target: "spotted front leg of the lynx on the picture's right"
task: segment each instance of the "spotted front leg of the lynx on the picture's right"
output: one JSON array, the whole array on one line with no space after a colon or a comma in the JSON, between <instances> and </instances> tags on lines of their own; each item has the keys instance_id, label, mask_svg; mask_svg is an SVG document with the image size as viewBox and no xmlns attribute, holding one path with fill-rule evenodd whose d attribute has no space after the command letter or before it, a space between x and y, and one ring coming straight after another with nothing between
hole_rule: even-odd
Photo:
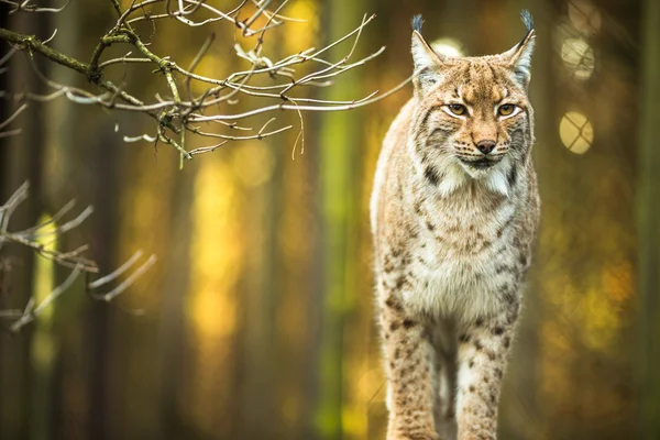
<instances>
[{"instance_id":1,"label":"spotted front leg of the lynx on the picture's right","mask_svg":"<svg viewBox=\"0 0 660 440\"><path fill-rule=\"evenodd\" d=\"M502 380L519 305L479 319L459 336L459 440L495 440Z\"/></svg>"}]
</instances>

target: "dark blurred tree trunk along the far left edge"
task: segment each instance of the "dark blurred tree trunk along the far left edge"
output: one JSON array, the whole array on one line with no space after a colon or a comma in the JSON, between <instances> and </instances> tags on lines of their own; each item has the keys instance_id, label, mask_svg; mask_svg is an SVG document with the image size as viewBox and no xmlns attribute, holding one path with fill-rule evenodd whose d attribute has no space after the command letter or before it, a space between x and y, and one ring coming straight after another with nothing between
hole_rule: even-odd
<instances>
[{"instance_id":1,"label":"dark blurred tree trunk along the far left edge","mask_svg":"<svg viewBox=\"0 0 660 440\"><path fill-rule=\"evenodd\" d=\"M6 15L2 21L7 24ZM4 25L3 24L3 25ZM29 35L44 36L50 29L48 14L37 14L28 18L25 15L12 20L14 29ZM2 52L4 55L6 52ZM36 94L44 94L45 86L31 73L26 63L20 63L20 56L12 59L11 85L2 90L25 88ZM35 57L37 68L47 75L48 65L44 58ZM2 75L3 77L6 75ZM9 114L18 107L11 106ZM42 157L45 144L45 111L43 106L33 105L25 110L16 123L23 123L23 132L15 138L2 139L2 163L0 164L0 204L4 204L9 196L15 191L23 182L30 182L30 197L21 208L12 216L10 228L26 228L34 226L41 209L41 177L43 162ZM12 125L14 128L18 125ZM10 246L7 246L10 248ZM8 256L7 248L0 257ZM10 253L18 264L12 264L12 272L8 274L11 283L10 298L0 298L0 307L22 308L28 304L33 294L33 262L34 252L21 246L10 248ZM30 362L32 350L32 329L26 328L21 334L12 337L8 332L0 331L0 438L2 439L28 439L34 429L31 426L30 397L33 387L33 369Z\"/></svg>"}]
</instances>

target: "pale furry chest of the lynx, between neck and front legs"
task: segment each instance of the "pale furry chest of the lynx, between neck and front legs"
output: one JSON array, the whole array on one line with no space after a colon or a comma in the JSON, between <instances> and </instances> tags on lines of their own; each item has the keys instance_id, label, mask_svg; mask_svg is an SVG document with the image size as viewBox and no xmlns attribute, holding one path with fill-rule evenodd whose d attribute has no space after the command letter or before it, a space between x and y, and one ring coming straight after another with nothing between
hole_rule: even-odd
<instances>
[{"instance_id":1,"label":"pale furry chest of the lynx, between neck and front legs","mask_svg":"<svg viewBox=\"0 0 660 440\"><path fill-rule=\"evenodd\" d=\"M518 279L516 215L507 200L492 207L428 204L410 249L407 306L458 319L490 316L504 307Z\"/></svg>"}]
</instances>

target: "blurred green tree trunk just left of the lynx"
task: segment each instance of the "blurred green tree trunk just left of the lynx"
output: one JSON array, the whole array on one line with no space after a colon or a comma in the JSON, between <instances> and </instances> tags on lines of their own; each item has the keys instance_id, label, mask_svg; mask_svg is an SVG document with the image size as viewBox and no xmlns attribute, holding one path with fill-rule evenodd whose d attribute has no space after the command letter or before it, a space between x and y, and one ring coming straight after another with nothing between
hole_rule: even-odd
<instances>
[{"instance_id":1,"label":"blurred green tree trunk just left of the lynx","mask_svg":"<svg viewBox=\"0 0 660 440\"><path fill-rule=\"evenodd\" d=\"M332 0L323 3L327 18L328 44L351 31L362 14L362 2ZM350 18L350 19L348 19ZM331 52L332 59L345 56L350 46L340 45ZM355 59L360 53L353 55ZM356 72L341 78L341 87L332 87L324 99L340 100L360 94ZM356 266L354 242L355 200L359 185L355 182L356 152L362 133L360 117L349 112L324 116L319 134L320 194L321 194L321 254L323 284L323 314L318 378L321 381L316 422L322 439L341 439L343 436L342 407L344 400L344 326L353 292ZM369 295L369 293L364 293Z\"/></svg>"}]
</instances>

